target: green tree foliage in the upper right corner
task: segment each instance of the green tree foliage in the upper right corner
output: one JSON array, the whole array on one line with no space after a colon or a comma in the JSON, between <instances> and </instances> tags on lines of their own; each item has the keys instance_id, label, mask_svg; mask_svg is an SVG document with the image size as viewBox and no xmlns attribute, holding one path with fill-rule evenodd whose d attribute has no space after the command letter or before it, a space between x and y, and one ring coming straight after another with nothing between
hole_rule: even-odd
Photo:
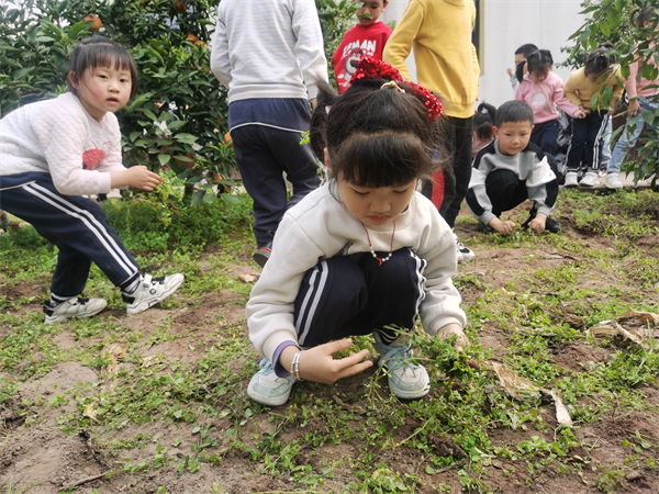
<instances>
[{"instance_id":1,"label":"green tree foliage in the upper right corner","mask_svg":"<svg viewBox=\"0 0 659 494\"><path fill-rule=\"evenodd\" d=\"M659 56L657 54L657 40L659 37L659 0L584 0L582 14L589 14L585 23L577 31L570 40L574 42L572 47L562 48L569 52L567 66L580 67L583 65L585 54L597 47L601 43L613 43L615 49L612 52L621 64L623 77L629 77L629 65L639 61L639 72L648 80L659 83ZM656 8L650 18L649 25L643 29L629 25L629 14L636 8L652 5ZM654 60L655 64L650 64ZM603 88L601 93L593 98L601 98L604 108L611 104L612 91ZM659 97L652 99L659 102ZM622 167L623 171L634 172L634 180L648 179L654 175L652 188L659 190L657 176L659 175L659 110L643 112L643 119L649 124L646 126L645 135L641 135L636 145L637 158L632 159ZM638 117L629 119L632 131ZM654 126L651 126L654 124ZM614 138L619 135L623 127L614 133Z\"/></svg>"}]
</instances>

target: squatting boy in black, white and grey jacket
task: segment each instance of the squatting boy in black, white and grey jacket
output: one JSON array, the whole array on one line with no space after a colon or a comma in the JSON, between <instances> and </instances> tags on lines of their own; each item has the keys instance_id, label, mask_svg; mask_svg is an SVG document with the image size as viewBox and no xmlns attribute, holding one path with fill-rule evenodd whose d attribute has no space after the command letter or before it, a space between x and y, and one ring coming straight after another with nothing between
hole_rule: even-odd
<instances>
[{"instance_id":1,"label":"squatting boy in black, white and grey jacket","mask_svg":"<svg viewBox=\"0 0 659 494\"><path fill-rule=\"evenodd\" d=\"M474 158L467 192L467 206L479 221L480 232L510 235L516 225L501 221L501 213L527 199L534 206L522 227L560 232L558 222L549 217L558 181L540 148L529 142L533 126L533 110L523 101L509 101L496 110L495 139Z\"/></svg>"}]
</instances>

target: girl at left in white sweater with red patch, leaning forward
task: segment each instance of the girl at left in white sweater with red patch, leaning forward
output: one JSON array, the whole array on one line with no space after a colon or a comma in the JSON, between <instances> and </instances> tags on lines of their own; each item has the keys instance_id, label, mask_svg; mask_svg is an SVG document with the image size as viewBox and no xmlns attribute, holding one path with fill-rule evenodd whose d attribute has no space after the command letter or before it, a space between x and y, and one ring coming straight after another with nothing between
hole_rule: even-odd
<instances>
[{"instance_id":1,"label":"girl at left in white sweater with red patch, leaning forward","mask_svg":"<svg viewBox=\"0 0 659 494\"><path fill-rule=\"evenodd\" d=\"M46 323L89 317L108 305L78 296L92 261L121 290L126 312L136 314L174 293L183 276L142 277L103 210L81 197L121 187L150 191L160 183L144 166L122 165L114 112L137 92L135 60L105 37L83 40L71 55L68 85L67 93L0 120L0 207L59 248Z\"/></svg>"}]
</instances>

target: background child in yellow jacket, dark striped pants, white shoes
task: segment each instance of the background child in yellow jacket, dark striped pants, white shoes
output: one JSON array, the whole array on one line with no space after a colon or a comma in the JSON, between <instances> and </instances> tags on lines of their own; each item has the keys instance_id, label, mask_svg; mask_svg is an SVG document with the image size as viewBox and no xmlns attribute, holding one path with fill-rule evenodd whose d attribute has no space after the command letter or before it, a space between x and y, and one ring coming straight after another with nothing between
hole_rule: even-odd
<instances>
[{"instance_id":1,"label":"background child in yellow jacket, dark striped pants, white shoes","mask_svg":"<svg viewBox=\"0 0 659 494\"><path fill-rule=\"evenodd\" d=\"M566 187L594 187L600 169L600 147L602 134L608 123L608 117L617 108L623 93L623 77L615 57L607 55L611 48L601 46L585 57L585 64L574 70L565 85L566 97L587 115L584 119L572 121L572 142L568 149ZM611 105L603 106L602 98L593 108L592 98L602 88L610 87L613 91ZM578 181L581 160L585 150L585 173Z\"/></svg>"}]
</instances>

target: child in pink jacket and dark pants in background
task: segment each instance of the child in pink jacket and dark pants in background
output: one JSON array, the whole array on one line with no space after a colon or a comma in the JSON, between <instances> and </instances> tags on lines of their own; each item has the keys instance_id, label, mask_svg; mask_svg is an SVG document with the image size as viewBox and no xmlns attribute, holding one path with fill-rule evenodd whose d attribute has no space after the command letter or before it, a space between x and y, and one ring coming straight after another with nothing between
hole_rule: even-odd
<instances>
[{"instance_id":1,"label":"child in pink jacket and dark pants in background","mask_svg":"<svg viewBox=\"0 0 659 494\"><path fill-rule=\"evenodd\" d=\"M520 82L515 99L524 101L533 109L535 126L530 133L530 142L539 146L545 154L556 156L560 119L556 106L574 119L583 119L585 112L566 98L562 79L551 71L551 52L539 49L528 55L526 60L528 74Z\"/></svg>"}]
</instances>

